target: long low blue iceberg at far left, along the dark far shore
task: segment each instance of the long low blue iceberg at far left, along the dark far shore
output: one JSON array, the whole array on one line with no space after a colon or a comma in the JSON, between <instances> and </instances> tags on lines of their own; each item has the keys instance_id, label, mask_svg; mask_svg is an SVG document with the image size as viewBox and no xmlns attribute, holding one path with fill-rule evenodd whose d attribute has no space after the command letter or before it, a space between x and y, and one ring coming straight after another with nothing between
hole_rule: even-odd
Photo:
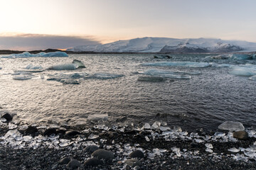
<instances>
[{"instance_id":1,"label":"long low blue iceberg at far left, along the dark far shore","mask_svg":"<svg viewBox=\"0 0 256 170\"><path fill-rule=\"evenodd\" d=\"M23 52L21 54L11 54L9 56L2 56L1 58L26 58L26 57L68 57L66 52L39 52L31 54L30 52Z\"/></svg>"}]
</instances>

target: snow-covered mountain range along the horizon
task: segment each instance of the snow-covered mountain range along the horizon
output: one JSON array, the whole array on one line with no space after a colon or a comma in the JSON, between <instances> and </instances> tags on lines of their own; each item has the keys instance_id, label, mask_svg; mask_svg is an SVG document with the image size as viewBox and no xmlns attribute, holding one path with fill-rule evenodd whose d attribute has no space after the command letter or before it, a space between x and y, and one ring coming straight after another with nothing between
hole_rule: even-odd
<instances>
[{"instance_id":1,"label":"snow-covered mountain range along the horizon","mask_svg":"<svg viewBox=\"0 0 256 170\"><path fill-rule=\"evenodd\" d=\"M74 52L235 52L256 51L256 42L214 38L135 38L103 45L82 45Z\"/></svg>"}]
</instances>

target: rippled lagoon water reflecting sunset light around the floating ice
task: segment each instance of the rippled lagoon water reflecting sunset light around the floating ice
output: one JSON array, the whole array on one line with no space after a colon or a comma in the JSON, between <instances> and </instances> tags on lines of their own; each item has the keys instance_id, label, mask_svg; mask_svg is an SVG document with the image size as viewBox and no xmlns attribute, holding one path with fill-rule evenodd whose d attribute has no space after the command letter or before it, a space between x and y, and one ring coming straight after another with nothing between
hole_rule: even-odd
<instances>
[{"instance_id":1,"label":"rippled lagoon water reflecting sunset light around the floating ice","mask_svg":"<svg viewBox=\"0 0 256 170\"><path fill-rule=\"evenodd\" d=\"M205 59L205 55L174 55L171 61L218 62L245 64L255 61ZM11 73L28 64L43 68L53 64L81 60L86 68L74 71L33 73L32 79L18 81ZM182 128L216 128L225 120L238 120L254 125L256 120L255 85L247 77L228 74L229 68L181 68L142 66L156 60L153 55L70 55L70 57L0 59L0 106L17 113L18 120L32 123L57 121L75 124L91 114L109 115L114 123L127 116L127 121L153 123L167 120ZM255 63L254 63L255 62ZM191 79L162 82L137 81L148 69L201 72ZM107 72L124 74L117 79L85 79L80 84L47 81L48 74Z\"/></svg>"}]
</instances>

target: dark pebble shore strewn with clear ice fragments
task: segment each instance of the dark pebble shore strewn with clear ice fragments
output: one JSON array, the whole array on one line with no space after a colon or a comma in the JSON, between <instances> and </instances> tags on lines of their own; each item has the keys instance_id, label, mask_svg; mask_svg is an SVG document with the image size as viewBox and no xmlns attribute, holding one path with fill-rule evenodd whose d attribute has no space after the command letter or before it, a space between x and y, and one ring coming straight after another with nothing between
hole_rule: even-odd
<instances>
[{"instance_id":1,"label":"dark pebble shore strewn with clear ice fragments","mask_svg":"<svg viewBox=\"0 0 256 170\"><path fill-rule=\"evenodd\" d=\"M13 124L12 124L13 125ZM9 132L10 123L0 126L0 137ZM18 125L19 127L19 125ZM41 137L43 140L30 146L26 142L24 147L12 145L17 140L0 139L0 169L256 169L255 157L246 157L240 152L229 152L230 148L247 148L254 144L255 137L247 140L224 140L223 134L228 132L181 132L172 130L173 137L161 135L161 130L138 130L136 127L100 128L58 127L28 131L28 128L17 132L21 136ZM36 126L33 126L36 128ZM33 128L32 128L33 129ZM36 128L37 129L37 128ZM48 131L47 131L48 130ZM93 135L92 135L93 134ZM218 135L221 135L218 136ZM43 138L46 137L46 138ZM147 138L146 138L147 137ZM211 140L204 141L206 137ZM14 136L15 138L15 136ZM70 141L63 147L55 147L59 140ZM85 166L84 162L90 159L91 153L85 150L88 144L94 144L114 154L112 161L103 160L99 166ZM86 143L86 144L85 144ZM206 152L206 143L213 145L213 152ZM35 147L36 146L36 147ZM178 152L175 149L180 150ZM141 149L144 158L139 159L140 166L129 166L124 160L130 159L129 154L134 149ZM178 155L180 154L180 155ZM70 168L66 164L58 164L60 159L68 157L80 162L80 166ZM238 159L234 159L238 157Z\"/></svg>"}]
</instances>

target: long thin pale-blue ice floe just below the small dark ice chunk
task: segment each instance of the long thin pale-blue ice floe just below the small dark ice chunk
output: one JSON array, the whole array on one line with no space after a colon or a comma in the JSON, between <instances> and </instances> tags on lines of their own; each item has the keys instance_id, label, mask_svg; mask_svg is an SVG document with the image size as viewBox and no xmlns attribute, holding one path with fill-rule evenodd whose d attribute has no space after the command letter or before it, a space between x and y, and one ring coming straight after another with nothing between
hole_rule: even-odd
<instances>
[{"instance_id":1,"label":"long thin pale-blue ice floe just below the small dark ice chunk","mask_svg":"<svg viewBox=\"0 0 256 170\"><path fill-rule=\"evenodd\" d=\"M191 68L203 68L209 67L207 62L148 62L141 64L142 66L169 66L169 67L191 67Z\"/></svg>"}]
</instances>

